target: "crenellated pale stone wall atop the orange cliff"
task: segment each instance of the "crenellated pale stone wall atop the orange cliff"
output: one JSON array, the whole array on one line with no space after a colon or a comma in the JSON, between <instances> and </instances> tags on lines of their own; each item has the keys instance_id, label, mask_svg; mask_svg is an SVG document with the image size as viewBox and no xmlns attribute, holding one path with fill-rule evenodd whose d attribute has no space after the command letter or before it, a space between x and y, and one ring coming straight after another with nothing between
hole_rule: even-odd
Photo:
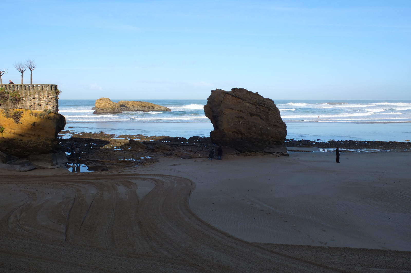
<instances>
[{"instance_id":1,"label":"crenellated pale stone wall atop the orange cliff","mask_svg":"<svg viewBox=\"0 0 411 273\"><path fill-rule=\"evenodd\" d=\"M0 84L7 92L17 92L20 102L0 104L0 109L30 109L33 111L48 111L58 113L57 84Z\"/></svg>"}]
</instances>

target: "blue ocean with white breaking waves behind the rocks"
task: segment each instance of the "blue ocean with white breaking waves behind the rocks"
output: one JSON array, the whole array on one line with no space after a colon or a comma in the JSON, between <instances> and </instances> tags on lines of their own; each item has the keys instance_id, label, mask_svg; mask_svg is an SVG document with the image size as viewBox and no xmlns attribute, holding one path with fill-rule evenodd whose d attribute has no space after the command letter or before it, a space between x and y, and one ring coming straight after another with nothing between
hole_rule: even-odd
<instances>
[{"instance_id":1,"label":"blue ocean with white breaking waves behind the rocks","mask_svg":"<svg viewBox=\"0 0 411 273\"><path fill-rule=\"evenodd\" d=\"M137 100L137 99L136 99ZM113 100L118 102L119 100ZM93 115L95 100L59 100L59 113L71 132L209 136L207 100L143 100L171 112ZM274 100L287 124L287 138L308 140L407 141L411 139L411 100Z\"/></svg>"}]
</instances>

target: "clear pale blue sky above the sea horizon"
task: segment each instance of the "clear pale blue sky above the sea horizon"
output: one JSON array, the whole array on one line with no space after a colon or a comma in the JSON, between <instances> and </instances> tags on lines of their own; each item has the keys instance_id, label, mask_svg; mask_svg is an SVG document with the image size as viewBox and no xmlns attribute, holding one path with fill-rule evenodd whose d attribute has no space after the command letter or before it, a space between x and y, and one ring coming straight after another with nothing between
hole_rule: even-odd
<instances>
[{"instance_id":1,"label":"clear pale blue sky above the sea horizon","mask_svg":"<svg viewBox=\"0 0 411 273\"><path fill-rule=\"evenodd\" d=\"M411 1L2 1L3 83L62 99L411 99ZM24 83L30 75L24 74Z\"/></svg>"}]
</instances>

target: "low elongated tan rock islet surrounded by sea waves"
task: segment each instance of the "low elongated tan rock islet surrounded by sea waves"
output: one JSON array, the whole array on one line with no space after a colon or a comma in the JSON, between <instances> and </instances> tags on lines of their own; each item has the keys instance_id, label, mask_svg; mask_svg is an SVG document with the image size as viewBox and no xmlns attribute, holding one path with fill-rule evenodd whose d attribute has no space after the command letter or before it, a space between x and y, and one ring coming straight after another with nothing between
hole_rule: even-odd
<instances>
[{"instance_id":1,"label":"low elongated tan rock islet surrounded by sea waves","mask_svg":"<svg viewBox=\"0 0 411 273\"><path fill-rule=\"evenodd\" d=\"M144 101L120 100L112 102L109 98L99 98L93 107L93 114L118 114L122 111L171 111L170 108Z\"/></svg>"}]
</instances>

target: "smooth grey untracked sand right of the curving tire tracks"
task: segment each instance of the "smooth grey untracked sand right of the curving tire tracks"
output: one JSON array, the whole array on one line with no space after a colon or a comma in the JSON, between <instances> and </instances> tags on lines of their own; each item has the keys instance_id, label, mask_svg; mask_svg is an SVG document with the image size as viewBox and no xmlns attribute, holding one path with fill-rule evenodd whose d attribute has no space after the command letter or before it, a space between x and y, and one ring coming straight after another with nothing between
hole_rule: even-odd
<instances>
[{"instance_id":1,"label":"smooth grey untracked sand right of the curving tire tracks","mask_svg":"<svg viewBox=\"0 0 411 273\"><path fill-rule=\"evenodd\" d=\"M196 181L192 210L246 241L411 251L411 153L289 153L143 168Z\"/></svg>"}]
</instances>

